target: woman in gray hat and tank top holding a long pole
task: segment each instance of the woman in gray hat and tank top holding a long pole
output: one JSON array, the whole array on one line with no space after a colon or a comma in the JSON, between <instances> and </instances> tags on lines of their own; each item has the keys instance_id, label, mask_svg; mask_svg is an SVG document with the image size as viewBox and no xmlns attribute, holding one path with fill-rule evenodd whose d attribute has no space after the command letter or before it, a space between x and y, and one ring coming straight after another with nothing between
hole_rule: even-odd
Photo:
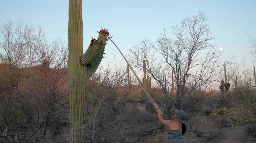
<instances>
[{"instance_id":1,"label":"woman in gray hat and tank top holding a long pole","mask_svg":"<svg viewBox=\"0 0 256 143\"><path fill-rule=\"evenodd\" d=\"M165 127L167 126L167 143L186 143L184 138L186 132L186 125L184 123L186 118L185 112L175 109L174 120L163 120L159 108L155 110L158 114L159 122L164 124Z\"/></svg>"}]
</instances>

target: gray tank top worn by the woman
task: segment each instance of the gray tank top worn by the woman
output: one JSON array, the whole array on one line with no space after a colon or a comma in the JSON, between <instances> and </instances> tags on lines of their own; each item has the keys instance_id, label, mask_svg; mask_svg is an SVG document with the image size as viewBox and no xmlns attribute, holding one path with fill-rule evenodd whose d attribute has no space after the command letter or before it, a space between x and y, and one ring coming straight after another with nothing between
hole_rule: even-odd
<instances>
[{"instance_id":1,"label":"gray tank top worn by the woman","mask_svg":"<svg viewBox=\"0 0 256 143\"><path fill-rule=\"evenodd\" d=\"M167 129L167 143L186 143L185 138L182 135L182 127L179 124L178 126L178 130L170 130L169 128Z\"/></svg>"}]
</instances>

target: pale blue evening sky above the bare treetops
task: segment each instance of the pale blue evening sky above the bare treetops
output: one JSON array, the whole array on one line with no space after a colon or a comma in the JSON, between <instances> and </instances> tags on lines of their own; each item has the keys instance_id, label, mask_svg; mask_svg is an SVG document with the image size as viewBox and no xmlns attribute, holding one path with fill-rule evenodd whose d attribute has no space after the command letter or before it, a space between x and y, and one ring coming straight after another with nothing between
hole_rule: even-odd
<instances>
[{"instance_id":1,"label":"pale blue evening sky above the bare treetops","mask_svg":"<svg viewBox=\"0 0 256 143\"><path fill-rule=\"evenodd\" d=\"M84 51L91 36L97 37L100 28L107 28L112 40L125 55L131 46L145 37L155 41L163 28L172 38L170 26L179 25L185 16L205 11L207 24L215 35L218 48L223 48L223 59L243 57L251 63L248 35L256 38L256 1L82 1L84 25ZM67 41L68 0L63 1L0 1L0 25L7 19L29 20L41 24L49 38L61 37ZM108 41L106 59L113 60L116 50ZM122 59L119 53L118 57ZM253 64L250 65L252 67Z\"/></svg>"}]
</instances>

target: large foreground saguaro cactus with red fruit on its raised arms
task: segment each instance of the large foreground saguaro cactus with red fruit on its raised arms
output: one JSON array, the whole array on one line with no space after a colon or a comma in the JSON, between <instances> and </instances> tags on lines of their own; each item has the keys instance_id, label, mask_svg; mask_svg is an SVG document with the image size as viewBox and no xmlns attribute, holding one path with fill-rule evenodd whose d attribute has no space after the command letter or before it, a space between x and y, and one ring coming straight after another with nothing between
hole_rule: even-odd
<instances>
[{"instance_id":1,"label":"large foreground saguaro cactus with red fruit on its raised arms","mask_svg":"<svg viewBox=\"0 0 256 143\"><path fill-rule=\"evenodd\" d=\"M82 0L69 0L68 10L68 88L71 143L82 143L86 119L87 79L98 68L104 54L108 30L101 29L83 54Z\"/></svg>"}]
</instances>

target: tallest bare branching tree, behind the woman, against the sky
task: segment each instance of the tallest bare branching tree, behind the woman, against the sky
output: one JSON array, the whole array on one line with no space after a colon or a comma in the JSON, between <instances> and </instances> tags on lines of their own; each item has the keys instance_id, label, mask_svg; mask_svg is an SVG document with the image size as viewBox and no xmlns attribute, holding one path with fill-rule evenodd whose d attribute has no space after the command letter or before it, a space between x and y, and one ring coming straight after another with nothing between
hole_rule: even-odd
<instances>
[{"instance_id":1,"label":"tallest bare branching tree, behind the woman, against the sky","mask_svg":"<svg viewBox=\"0 0 256 143\"><path fill-rule=\"evenodd\" d=\"M180 26L172 26L175 40L168 38L168 32L164 30L156 42L145 39L130 49L131 63L142 70L142 60L145 59L146 72L156 80L166 96L173 70L177 88L174 102L178 109L182 109L183 101L191 96L193 90L219 81L217 75L228 63L227 59L221 61L222 52L211 43L215 37L206 23L207 19L205 12L199 11L198 15L181 20Z\"/></svg>"}]
</instances>

